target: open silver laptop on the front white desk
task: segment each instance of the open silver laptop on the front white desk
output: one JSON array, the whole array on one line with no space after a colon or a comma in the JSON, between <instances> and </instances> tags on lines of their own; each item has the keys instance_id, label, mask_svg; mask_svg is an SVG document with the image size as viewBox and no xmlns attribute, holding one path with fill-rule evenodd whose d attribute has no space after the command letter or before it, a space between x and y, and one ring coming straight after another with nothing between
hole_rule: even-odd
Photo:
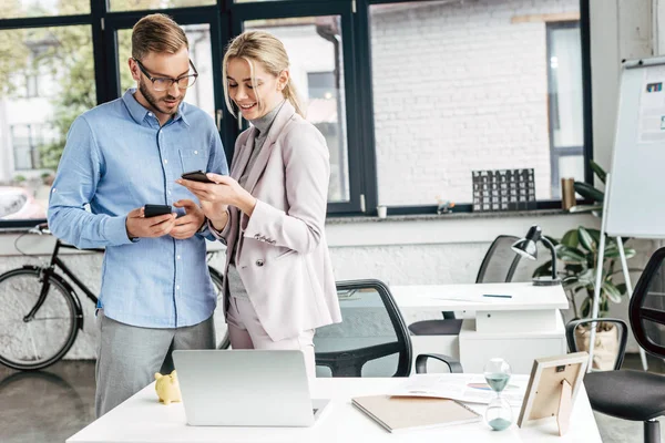
<instances>
[{"instance_id":1,"label":"open silver laptop on the front white desk","mask_svg":"<svg viewBox=\"0 0 665 443\"><path fill-rule=\"evenodd\" d=\"M187 424L310 426L329 400L311 400L303 352L176 350Z\"/></svg>"}]
</instances>

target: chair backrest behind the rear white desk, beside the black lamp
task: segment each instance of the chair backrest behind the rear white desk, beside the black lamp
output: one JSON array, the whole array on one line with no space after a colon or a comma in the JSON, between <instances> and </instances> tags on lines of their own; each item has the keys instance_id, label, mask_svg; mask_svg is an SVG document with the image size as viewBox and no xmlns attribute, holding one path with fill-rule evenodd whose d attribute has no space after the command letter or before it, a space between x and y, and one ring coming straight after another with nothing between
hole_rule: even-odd
<instances>
[{"instance_id":1,"label":"chair backrest behind the rear white desk, beside the black lamp","mask_svg":"<svg viewBox=\"0 0 665 443\"><path fill-rule=\"evenodd\" d=\"M478 270L477 284L501 284L512 280L520 255L510 247L518 240L514 236L500 235L492 241Z\"/></svg>"}]
</instances>

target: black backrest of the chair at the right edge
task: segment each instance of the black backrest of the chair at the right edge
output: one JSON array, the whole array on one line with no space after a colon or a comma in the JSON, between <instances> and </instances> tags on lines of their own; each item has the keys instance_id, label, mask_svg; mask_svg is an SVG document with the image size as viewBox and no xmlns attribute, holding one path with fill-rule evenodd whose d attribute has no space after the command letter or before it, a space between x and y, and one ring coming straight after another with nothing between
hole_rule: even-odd
<instances>
[{"instance_id":1,"label":"black backrest of the chair at the right edge","mask_svg":"<svg viewBox=\"0 0 665 443\"><path fill-rule=\"evenodd\" d=\"M637 343L652 356L665 357L665 248L649 258L628 308Z\"/></svg>"}]
</instances>

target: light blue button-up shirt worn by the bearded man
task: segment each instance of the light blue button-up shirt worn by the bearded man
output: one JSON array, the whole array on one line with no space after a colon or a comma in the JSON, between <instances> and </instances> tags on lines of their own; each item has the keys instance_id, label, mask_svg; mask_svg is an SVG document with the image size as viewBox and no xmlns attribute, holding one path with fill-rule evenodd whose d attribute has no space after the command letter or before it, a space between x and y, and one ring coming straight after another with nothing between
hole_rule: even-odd
<instances>
[{"instance_id":1,"label":"light blue button-up shirt worn by the bearded man","mask_svg":"<svg viewBox=\"0 0 665 443\"><path fill-rule=\"evenodd\" d=\"M70 127L51 188L49 227L79 248L106 248L98 303L104 316L146 328L197 324L217 302L205 257L209 231L185 240L166 235L132 241L125 222L145 204L198 204L175 179L196 169L228 174L222 140L213 119L187 103L160 126L135 91L85 112Z\"/></svg>"}]
</instances>

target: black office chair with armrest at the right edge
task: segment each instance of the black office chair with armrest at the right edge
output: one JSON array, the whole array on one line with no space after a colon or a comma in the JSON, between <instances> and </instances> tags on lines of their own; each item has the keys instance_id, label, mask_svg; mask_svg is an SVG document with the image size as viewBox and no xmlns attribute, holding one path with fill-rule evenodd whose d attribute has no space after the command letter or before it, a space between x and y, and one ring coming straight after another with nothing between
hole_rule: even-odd
<instances>
[{"instance_id":1,"label":"black office chair with armrest at the right edge","mask_svg":"<svg viewBox=\"0 0 665 443\"><path fill-rule=\"evenodd\" d=\"M665 358L665 248L654 253L633 292L628 308L631 329L637 343L648 353ZM582 322L611 321L623 323L620 356L614 371L590 372L584 385L594 411L617 419L644 422L644 442L661 441L661 426L656 420L665 415L665 377L651 372L620 370L626 343L625 322L617 319L584 319L566 327L569 346L571 333ZM576 323L576 324L575 324ZM622 327L620 327L621 330ZM571 346L571 351L576 348Z\"/></svg>"}]
</instances>

